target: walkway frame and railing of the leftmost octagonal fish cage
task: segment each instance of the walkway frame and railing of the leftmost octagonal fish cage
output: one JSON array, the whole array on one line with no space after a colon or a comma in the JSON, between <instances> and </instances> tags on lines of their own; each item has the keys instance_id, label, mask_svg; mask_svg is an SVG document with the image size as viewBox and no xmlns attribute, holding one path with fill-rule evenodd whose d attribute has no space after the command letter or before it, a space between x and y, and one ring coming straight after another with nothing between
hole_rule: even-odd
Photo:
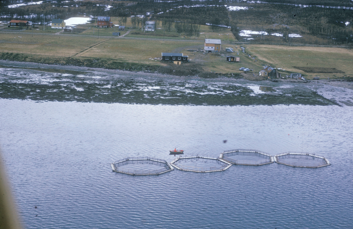
<instances>
[{"instance_id":1,"label":"walkway frame and railing of the leftmost octagonal fish cage","mask_svg":"<svg viewBox=\"0 0 353 229\"><path fill-rule=\"evenodd\" d=\"M149 165L156 165L161 166L160 169L131 169L131 168L124 168L124 165L129 164L149 164ZM169 163L162 159L157 159L153 157L126 157L119 161L115 161L111 163L112 170L117 173L125 173L129 175L159 175L162 173L166 173L169 171L174 170Z\"/></svg>"}]
</instances>

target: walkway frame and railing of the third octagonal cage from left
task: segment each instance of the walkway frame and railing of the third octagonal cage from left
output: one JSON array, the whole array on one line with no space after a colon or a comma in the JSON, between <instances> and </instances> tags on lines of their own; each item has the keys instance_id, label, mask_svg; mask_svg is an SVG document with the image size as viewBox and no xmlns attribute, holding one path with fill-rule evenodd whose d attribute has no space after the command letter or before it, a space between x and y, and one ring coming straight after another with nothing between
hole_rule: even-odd
<instances>
[{"instance_id":1,"label":"walkway frame and railing of the third octagonal cage from left","mask_svg":"<svg viewBox=\"0 0 353 229\"><path fill-rule=\"evenodd\" d=\"M243 155L243 156L257 156L257 157L262 157L264 160L260 161L255 161L255 160L236 160L228 156L234 156L234 155ZM232 149L232 150L226 150L223 153L220 154L219 156L221 159L228 161L234 165L252 165L252 166L260 166L260 165L266 165L274 162L273 157L265 152L262 152L260 150L256 149Z\"/></svg>"}]
</instances>

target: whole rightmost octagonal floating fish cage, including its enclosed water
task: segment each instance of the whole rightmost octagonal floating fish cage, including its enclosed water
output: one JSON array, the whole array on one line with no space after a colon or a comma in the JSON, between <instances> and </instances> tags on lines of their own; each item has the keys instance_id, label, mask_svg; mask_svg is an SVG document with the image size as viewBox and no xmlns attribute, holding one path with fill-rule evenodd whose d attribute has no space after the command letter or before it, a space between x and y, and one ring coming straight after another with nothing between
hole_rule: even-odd
<instances>
[{"instance_id":1,"label":"whole rightmost octagonal floating fish cage, including its enclosed water","mask_svg":"<svg viewBox=\"0 0 353 229\"><path fill-rule=\"evenodd\" d=\"M330 165L330 162L321 156L309 153L286 152L275 156L277 163L292 167L319 168Z\"/></svg>"}]
</instances>

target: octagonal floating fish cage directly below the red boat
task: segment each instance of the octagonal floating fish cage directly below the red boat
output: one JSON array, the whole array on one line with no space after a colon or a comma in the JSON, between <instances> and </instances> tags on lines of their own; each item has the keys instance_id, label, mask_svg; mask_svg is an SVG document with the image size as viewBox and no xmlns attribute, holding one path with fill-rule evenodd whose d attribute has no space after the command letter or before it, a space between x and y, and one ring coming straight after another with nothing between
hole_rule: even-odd
<instances>
[{"instance_id":1,"label":"octagonal floating fish cage directly below the red boat","mask_svg":"<svg viewBox=\"0 0 353 229\"><path fill-rule=\"evenodd\" d=\"M185 162L205 162L205 163L212 163L214 166L185 166L183 163ZM170 165L179 169L181 171L189 171L189 172L198 172L198 173L208 173L208 172L220 172L225 171L229 167L232 166L231 163L220 159L219 157L212 157L212 156L203 156L203 155L196 155L196 156L179 156L175 158Z\"/></svg>"}]
</instances>

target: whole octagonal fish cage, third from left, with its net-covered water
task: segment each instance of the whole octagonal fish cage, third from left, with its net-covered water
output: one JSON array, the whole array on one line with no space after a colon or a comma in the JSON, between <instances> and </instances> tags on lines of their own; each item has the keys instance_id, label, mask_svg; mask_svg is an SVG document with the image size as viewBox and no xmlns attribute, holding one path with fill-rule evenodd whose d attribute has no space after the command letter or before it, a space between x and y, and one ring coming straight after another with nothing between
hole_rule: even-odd
<instances>
[{"instance_id":1,"label":"whole octagonal fish cage, third from left, with its net-covered water","mask_svg":"<svg viewBox=\"0 0 353 229\"><path fill-rule=\"evenodd\" d=\"M233 156L233 158L232 158ZM234 165L265 165L273 163L271 155L256 149L233 149L220 154L220 158Z\"/></svg>"}]
</instances>

